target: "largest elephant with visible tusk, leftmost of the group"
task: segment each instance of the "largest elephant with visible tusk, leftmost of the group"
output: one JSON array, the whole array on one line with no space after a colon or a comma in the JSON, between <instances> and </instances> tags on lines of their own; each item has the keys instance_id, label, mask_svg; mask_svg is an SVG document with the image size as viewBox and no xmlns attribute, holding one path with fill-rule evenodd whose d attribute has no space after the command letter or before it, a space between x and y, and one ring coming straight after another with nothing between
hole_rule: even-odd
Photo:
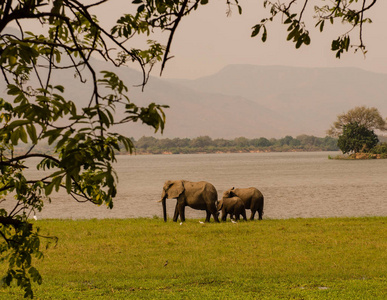
<instances>
[{"instance_id":1,"label":"largest elephant with visible tusk, leftmost of the group","mask_svg":"<svg viewBox=\"0 0 387 300\"><path fill-rule=\"evenodd\" d=\"M173 221L176 222L180 215L180 220L185 221L185 207L206 211L206 222L210 221L211 214L216 222L218 210L216 203L218 193L215 187L206 181L190 182L186 180L168 180L164 183L161 200L163 204L164 221L167 221L166 199L177 199Z\"/></svg>"}]
</instances>

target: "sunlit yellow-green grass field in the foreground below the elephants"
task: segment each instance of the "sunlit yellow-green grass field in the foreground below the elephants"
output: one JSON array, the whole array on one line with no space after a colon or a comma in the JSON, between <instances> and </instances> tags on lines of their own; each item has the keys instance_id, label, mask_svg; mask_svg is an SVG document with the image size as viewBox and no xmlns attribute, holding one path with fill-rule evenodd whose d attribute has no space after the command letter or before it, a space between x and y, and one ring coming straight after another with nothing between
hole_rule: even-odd
<instances>
[{"instance_id":1,"label":"sunlit yellow-green grass field in the foreground below the elephants","mask_svg":"<svg viewBox=\"0 0 387 300\"><path fill-rule=\"evenodd\" d=\"M387 217L39 220L36 299L385 299ZM167 265L165 265L168 261ZM0 270L4 266L0 265ZM0 299L20 299L17 288Z\"/></svg>"}]
</instances>

